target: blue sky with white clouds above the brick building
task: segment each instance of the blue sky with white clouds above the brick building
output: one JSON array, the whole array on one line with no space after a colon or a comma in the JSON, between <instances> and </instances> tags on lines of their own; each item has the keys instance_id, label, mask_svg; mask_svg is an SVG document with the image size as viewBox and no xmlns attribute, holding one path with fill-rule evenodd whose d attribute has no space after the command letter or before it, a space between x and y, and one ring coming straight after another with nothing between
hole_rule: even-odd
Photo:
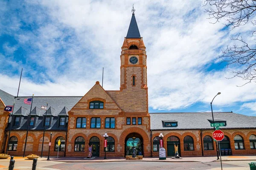
<instances>
[{"instance_id":1,"label":"blue sky with white clouds above the brick building","mask_svg":"<svg viewBox=\"0 0 256 170\"><path fill-rule=\"evenodd\" d=\"M216 59L251 26L211 24L203 1L0 1L0 89L20 96L83 96L101 82L118 90L131 5L147 50L150 112L233 111L256 115L255 83Z\"/></svg>"}]
</instances>

